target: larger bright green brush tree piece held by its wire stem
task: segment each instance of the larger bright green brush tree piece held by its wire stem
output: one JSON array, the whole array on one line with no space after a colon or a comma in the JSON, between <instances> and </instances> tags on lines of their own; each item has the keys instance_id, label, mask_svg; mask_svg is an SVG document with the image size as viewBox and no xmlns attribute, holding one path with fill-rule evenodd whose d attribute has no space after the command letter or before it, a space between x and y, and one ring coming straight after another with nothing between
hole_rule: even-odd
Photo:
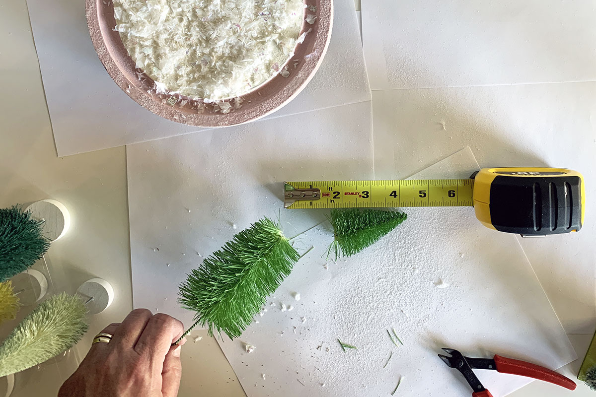
<instances>
[{"instance_id":1,"label":"larger bright green brush tree piece held by its wire stem","mask_svg":"<svg viewBox=\"0 0 596 397\"><path fill-rule=\"evenodd\" d=\"M231 339L239 337L299 258L280 226L269 218L235 235L180 286L178 301L195 312L196 323L187 333L200 323L210 335L224 332Z\"/></svg>"}]
</instances>

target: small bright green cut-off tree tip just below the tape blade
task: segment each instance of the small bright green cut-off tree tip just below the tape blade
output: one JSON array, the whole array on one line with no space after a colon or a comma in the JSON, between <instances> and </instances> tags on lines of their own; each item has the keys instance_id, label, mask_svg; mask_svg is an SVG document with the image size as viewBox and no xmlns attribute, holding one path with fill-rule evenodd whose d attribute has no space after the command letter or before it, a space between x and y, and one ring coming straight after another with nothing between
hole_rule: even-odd
<instances>
[{"instance_id":1,"label":"small bright green cut-off tree tip just below the tape blade","mask_svg":"<svg viewBox=\"0 0 596 397\"><path fill-rule=\"evenodd\" d=\"M334 252L350 257L373 245L406 220L405 212L360 210L331 210L330 222L333 226L334 240L327 250L327 257Z\"/></svg>"}]
</instances>

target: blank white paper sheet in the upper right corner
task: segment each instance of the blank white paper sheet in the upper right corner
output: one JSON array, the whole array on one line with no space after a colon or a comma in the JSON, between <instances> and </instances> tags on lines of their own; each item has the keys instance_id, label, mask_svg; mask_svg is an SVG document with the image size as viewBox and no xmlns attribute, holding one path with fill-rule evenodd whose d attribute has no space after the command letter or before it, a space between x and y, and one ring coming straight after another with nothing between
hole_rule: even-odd
<instances>
[{"instance_id":1,"label":"blank white paper sheet in the upper right corner","mask_svg":"<svg viewBox=\"0 0 596 397\"><path fill-rule=\"evenodd\" d=\"M596 79L593 1L362 0L371 87Z\"/></svg>"}]
</instances>

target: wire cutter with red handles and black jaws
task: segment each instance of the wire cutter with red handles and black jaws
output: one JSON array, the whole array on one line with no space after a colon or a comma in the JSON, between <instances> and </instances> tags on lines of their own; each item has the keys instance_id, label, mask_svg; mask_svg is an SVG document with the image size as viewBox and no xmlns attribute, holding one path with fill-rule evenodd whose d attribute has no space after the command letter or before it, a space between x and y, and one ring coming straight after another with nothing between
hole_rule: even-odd
<instances>
[{"instance_id":1,"label":"wire cutter with red handles and black jaws","mask_svg":"<svg viewBox=\"0 0 596 397\"><path fill-rule=\"evenodd\" d=\"M460 352L454 349L443 348L451 357L439 354L439 358L445 362L449 367L455 368L461 372L468 381L472 390L473 397L493 397L491 392L485 389L480 383L480 380L474 374L472 369L479 370L496 370L504 374L513 374L520 376L527 376L534 379L544 380L544 382L554 383L558 386L566 387L569 390L575 390L575 382L573 380L551 371L548 368L540 365L530 364L529 362L513 360L512 358L505 358L495 354L493 358L470 358L465 357Z\"/></svg>"}]
</instances>

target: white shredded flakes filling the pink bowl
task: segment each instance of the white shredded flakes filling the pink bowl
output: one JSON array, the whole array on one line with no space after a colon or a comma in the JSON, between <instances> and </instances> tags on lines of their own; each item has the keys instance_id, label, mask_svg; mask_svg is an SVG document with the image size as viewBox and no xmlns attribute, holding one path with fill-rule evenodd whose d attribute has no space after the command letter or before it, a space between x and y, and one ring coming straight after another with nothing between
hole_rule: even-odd
<instances>
[{"instance_id":1,"label":"white shredded flakes filling the pink bowl","mask_svg":"<svg viewBox=\"0 0 596 397\"><path fill-rule=\"evenodd\" d=\"M272 66L285 64L308 33L299 37L303 16L303 0L114 1L114 30L156 92L206 103L277 74ZM218 105L222 113L232 106Z\"/></svg>"}]
</instances>

